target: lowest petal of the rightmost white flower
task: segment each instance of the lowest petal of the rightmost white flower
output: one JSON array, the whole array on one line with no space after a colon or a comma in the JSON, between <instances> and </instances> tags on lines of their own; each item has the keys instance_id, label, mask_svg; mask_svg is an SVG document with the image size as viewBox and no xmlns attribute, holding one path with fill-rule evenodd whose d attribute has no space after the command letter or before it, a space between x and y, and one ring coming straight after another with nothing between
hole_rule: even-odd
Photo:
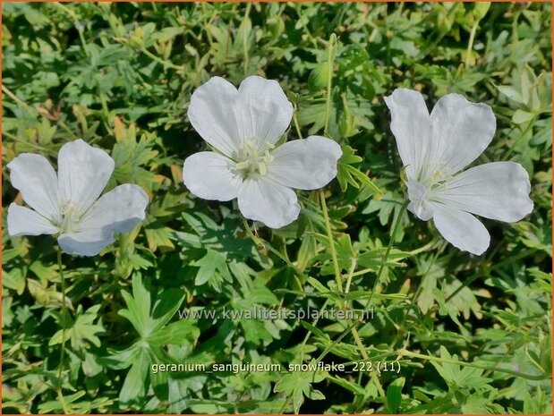
<instances>
[{"instance_id":1,"label":"lowest petal of the rightmost white flower","mask_svg":"<svg viewBox=\"0 0 554 416\"><path fill-rule=\"evenodd\" d=\"M433 221L445 240L460 250L480 255L489 248L489 232L481 221L465 211L437 205Z\"/></svg>"}]
</instances>

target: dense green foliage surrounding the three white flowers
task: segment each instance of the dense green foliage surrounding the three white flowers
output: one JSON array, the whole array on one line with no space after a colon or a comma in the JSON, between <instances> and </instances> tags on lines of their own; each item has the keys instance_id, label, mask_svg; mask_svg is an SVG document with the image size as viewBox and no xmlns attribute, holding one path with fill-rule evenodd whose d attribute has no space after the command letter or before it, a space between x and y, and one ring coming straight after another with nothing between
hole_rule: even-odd
<instances>
[{"instance_id":1,"label":"dense green foliage surrounding the three white flowers","mask_svg":"<svg viewBox=\"0 0 554 416\"><path fill-rule=\"evenodd\" d=\"M2 13L3 165L23 152L55 165L82 138L115 159L108 189L136 183L150 198L145 221L99 256L64 256L64 316L52 237L3 227L4 413L551 412L551 4L4 3ZM251 74L278 80L294 103L291 139L327 135L344 153L337 181L298 192L298 221L254 228L255 243L235 202L193 197L181 171L205 149L186 117L192 91ZM481 257L401 210L383 101L398 87L429 106L450 92L486 102L497 133L475 163L513 160L530 174L533 213L485 221ZM21 202L5 167L2 189L5 225ZM357 318L223 315L278 308ZM332 362L345 370L287 369ZM206 369L153 370L183 363ZM210 372L217 363L279 369Z\"/></svg>"}]
</instances>

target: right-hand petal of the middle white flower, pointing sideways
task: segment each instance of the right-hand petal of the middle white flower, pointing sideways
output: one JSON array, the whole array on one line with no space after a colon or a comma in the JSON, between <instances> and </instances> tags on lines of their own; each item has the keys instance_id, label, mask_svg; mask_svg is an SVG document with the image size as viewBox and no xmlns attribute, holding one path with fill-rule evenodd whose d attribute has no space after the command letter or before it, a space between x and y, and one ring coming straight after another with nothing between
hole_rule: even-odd
<instances>
[{"instance_id":1,"label":"right-hand petal of the middle white flower, pointing sideways","mask_svg":"<svg viewBox=\"0 0 554 416\"><path fill-rule=\"evenodd\" d=\"M337 161L343 155L334 140L310 136L279 146L268 163L268 175L282 185L315 190L327 185L337 176Z\"/></svg>"}]
</instances>

